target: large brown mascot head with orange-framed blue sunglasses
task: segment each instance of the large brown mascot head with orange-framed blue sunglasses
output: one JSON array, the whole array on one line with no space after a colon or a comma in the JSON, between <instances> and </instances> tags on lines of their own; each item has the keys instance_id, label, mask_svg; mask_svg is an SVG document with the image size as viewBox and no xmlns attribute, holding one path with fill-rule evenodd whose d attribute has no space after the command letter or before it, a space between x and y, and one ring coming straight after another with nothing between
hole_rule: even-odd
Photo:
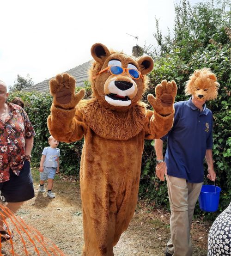
<instances>
[{"instance_id":1,"label":"large brown mascot head with orange-framed blue sunglasses","mask_svg":"<svg viewBox=\"0 0 231 256\"><path fill-rule=\"evenodd\" d=\"M92 96L109 108L125 110L136 104L147 87L146 74L153 68L149 56L134 59L109 51L101 44L91 47L95 62L90 70Z\"/></svg>"}]
</instances>

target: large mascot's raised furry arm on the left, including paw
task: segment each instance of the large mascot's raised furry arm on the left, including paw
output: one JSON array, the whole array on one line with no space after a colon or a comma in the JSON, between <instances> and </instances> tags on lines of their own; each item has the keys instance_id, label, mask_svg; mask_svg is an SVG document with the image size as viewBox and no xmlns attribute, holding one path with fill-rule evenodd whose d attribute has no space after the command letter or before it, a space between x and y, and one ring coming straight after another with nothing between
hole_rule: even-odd
<instances>
[{"instance_id":1,"label":"large mascot's raised furry arm on the left, including paw","mask_svg":"<svg viewBox=\"0 0 231 256\"><path fill-rule=\"evenodd\" d=\"M86 123L83 115L75 108L85 91L75 94L75 79L68 74L57 75L50 81L53 96L51 115L48 117L50 134L64 142L73 142L83 137Z\"/></svg>"}]
</instances>

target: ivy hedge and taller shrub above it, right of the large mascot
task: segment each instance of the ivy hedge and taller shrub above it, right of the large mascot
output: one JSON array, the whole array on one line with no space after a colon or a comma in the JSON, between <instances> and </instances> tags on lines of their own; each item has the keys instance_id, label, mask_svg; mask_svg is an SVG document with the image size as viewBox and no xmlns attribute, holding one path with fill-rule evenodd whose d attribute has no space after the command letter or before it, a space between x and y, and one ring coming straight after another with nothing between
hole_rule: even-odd
<instances>
[{"instance_id":1,"label":"ivy hedge and taller shrub above it, right of the large mascot","mask_svg":"<svg viewBox=\"0 0 231 256\"><path fill-rule=\"evenodd\" d=\"M184 85L195 69L210 67L220 84L219 97L207 102L213 111L213 159L217 173L216 184L221 187L220 208L224 210L231 198L231 12L227 4L214 6L213 2L199 3L193 7L186 0L175 5L174 36L162 36L158 28L154 34L158 49L151 54L155 59L150 73L150 87L146 92L153 93L155 85L161 80L175 80L178 86L176 102L186 100ZM230 6L229 6L230 7ZM146 97L145 97L146 98ZM168 205L166 183L155 177L155 155L153 142L146 142L143 155L140 196L148 197L157 205ZM205 183L207 165L205 164ZM196 213L199 213L196 207ZM208 218L213 218L207 214Z\"/></svg>"}]
</instances>

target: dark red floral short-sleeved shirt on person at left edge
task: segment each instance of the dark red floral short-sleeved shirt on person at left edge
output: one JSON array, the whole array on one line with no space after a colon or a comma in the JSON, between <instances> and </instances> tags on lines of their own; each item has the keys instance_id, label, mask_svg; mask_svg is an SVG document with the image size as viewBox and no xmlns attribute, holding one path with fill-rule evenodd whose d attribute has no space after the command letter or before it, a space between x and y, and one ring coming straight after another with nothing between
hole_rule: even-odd
<instances>
[{"instance_id":1,"label":"dark red floral short-sleeved shirt on person at left edge","mask_svg":"<svg viewBox=\"0 0 231 256\"><path fill-rule=\"evenodd\" d=\"M8 103L9 115L0 120L0 183L10 179L10 168L19 175L24 165L25 139L35 135L26 112L18 105Z\"/></svg>"}]
</instances>

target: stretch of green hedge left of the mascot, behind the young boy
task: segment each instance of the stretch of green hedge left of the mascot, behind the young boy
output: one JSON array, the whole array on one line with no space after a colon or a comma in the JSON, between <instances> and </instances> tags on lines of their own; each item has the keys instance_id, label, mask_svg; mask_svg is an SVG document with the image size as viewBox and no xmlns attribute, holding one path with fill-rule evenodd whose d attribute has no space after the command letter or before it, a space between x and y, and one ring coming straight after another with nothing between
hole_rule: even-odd
<instances>
[{"instance_id":1,"label":"stretch of green hedge left of the mascot, behind the young boy","mask_svg":"<svg viewBox=\"0 0 231 256\"><path fill-rule=\"evenodd\" d=\"M90 95L90 88L86 84L86 95ZM78 87L77 90L80 88ZM43 148L49 146L48 137L49 130L47 128L47 118L50 114L50 107L52 104L52 96L49 92L26 92L15 91L8 97L8 101L11 101L15 97L20 97L24 101L24 110L27 112L30 122L32 123L36 136L34 137L34 147L32 150L32 162L39 165ZM79 166L81 159L83 140L73 143L59 144L61 151L60 169L65 174L79 175Z\"/></svg>"}]
</instances>

